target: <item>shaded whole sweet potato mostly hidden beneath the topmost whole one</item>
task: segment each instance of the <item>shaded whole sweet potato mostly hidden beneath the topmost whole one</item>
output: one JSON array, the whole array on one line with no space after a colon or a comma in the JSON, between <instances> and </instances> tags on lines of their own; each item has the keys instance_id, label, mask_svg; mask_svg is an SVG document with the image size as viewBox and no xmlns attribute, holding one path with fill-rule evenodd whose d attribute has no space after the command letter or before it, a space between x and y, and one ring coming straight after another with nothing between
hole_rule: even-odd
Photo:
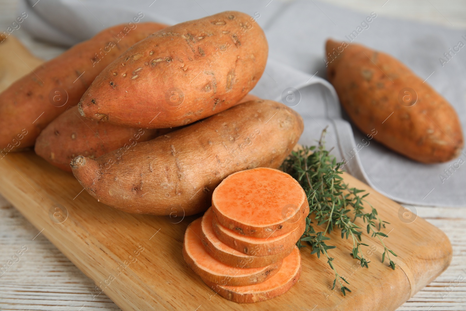
<instances>
[{"instance_id":1,"label":"shaded whole sweet potato mostly hidden beneath the topmost whole one","mask_svg":"<svg viewBox=\"0 0 466 311\"><path fill-rule=\"evenodd\" d=\"M50 164L71 172L69 163L79 155L95 159L164 135L172 129L131 128L108 122L89 120L79 114L78 107L69 108L41 131L34 151ZM117 150L120 149L121 150Z\"/></svg>"}]
</instances>

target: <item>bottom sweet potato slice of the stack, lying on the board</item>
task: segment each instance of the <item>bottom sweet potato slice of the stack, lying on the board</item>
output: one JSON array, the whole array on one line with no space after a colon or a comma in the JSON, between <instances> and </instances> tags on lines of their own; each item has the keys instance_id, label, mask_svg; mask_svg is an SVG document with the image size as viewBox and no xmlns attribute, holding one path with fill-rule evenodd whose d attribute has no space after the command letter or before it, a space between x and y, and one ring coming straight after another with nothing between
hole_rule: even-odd
<instances>
[{"instance_id":1,"label":"bottom sweet potato slice of the stack, lying on the board","mask_svg":"<svg viewBox=\"0 0 466 311\"><path fill-rule=\"evenodd\" d=\"M267 281L248 286L223 286L203 279L204 283L220 296L236 303L245 304L264 301L288 291L301 276L301 253L295 246L290 255L283 259L280 270Z\"/></svg>"}]
</instances>

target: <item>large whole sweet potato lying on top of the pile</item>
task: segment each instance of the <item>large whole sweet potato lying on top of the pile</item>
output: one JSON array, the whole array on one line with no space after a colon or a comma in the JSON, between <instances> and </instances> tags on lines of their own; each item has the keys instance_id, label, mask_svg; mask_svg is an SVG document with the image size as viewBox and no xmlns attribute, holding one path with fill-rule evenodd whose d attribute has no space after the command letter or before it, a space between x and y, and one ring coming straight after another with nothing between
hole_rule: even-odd
<instances>
[{"instance_id":1,"label":"large whole sweet potato lying on top of the pile","mask_svg":"<svg viewBox=\"0 0 466 311\"><path fill-rule=\"evenodd\" d=\"M97 76L82 116L165 128L196 122L244 97L264 71L268 45L247 14L228 11L165 28Z\"/></svg>"}]
</instances>

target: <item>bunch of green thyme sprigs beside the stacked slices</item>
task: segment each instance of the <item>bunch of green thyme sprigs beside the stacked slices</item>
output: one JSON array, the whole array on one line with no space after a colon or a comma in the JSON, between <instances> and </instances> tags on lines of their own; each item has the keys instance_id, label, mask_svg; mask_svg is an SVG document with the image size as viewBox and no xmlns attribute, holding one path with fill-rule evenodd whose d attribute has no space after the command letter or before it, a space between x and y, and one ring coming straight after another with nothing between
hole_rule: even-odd
<instances>
[{"instance_id":1,"label":"bunch of green thyme sprigs beside the stacked slices","mask_svg":"<svg viewBox=\"0 0 466 311\"><path fill-rule=\"evenodd\" d=\"M332 264L334 258L329 256L328 250L336 246L326 244L326 241L330 240L325 236L326 233L340 230L342 238L347 240L351 238L353 243L351 256L359 261L361 267L369 268L370 262L363 257L363 246L369 245L362 242L361 228L355 224L356 219L361 218L367 223L367 233L372 233L371 236L377 238L384 247L382 263L387 256L391 268L395 270L395 263L390 259L390 254L397 255L391 249L387 249L381 238L388 237L380 231L388 222L382 221L377 215L377 210L364 200L369 194L360 196L365 190L349 188L343 182L341 176L343 162L337 163L335 157L329 154L331 150L325 150L323 143L325 133L326 130L322 131L317 146L304 146L301 150L292 152L291 156L283 162L282 169L299 181L309 201L310 213L306 218L306 230L296 245L302 248L305 247L303 244L307 243L311 247L311 254L317 254L318 258L322 254L327 258L327 263L335 273L332 290L338 282L340 290L346 296L346 291L351 290L345 286L345 283L349 283L338 274ZM364 212L363 202L370 206L370 213ZM314 222L311 218L317 222L318 226L325 225L325 231L316 232L312 227Z\"/></svg>"}]
</instances>

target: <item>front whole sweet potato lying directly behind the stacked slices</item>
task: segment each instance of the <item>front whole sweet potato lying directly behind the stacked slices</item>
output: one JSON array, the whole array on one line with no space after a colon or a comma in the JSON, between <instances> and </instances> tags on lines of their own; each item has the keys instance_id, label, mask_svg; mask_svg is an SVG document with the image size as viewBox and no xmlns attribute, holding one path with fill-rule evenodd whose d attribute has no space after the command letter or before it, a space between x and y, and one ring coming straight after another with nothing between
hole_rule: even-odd
<instances>
[{"instance_id":1,"label":"front whole sweet potato lying directly behind the stacked slices","mask_svg":"<svg viewBox=\"0 0 466 311\"><path fill-rule=\"evenodd\" d=\"M71 162L81 185L130 213L192 215L211 205L229 174L277 168L303 131L299 114L269 100L239 104L178 131L138 143L120 159L107 153Z\"/></svg>"}]
</instances>

